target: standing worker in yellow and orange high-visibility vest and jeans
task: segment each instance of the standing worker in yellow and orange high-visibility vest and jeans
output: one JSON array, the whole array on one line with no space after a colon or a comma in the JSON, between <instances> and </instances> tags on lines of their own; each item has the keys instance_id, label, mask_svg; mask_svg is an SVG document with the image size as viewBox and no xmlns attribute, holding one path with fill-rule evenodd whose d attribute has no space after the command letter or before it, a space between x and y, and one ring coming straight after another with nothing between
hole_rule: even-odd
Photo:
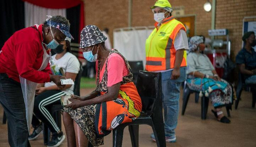
<instances>
[{"instance_id":1,"label":"standing worker in yellow and orange high-visibility vest and jeans","mask_svg":"<svg viewBox=\"0 0 256 147\"><path fill-rule=\"evenodd\" d=\"M146 70L162 73L162 99L166 142L176 142L180 86L186 80L186 28L171 16L168 0L158 0L151 7L155 29L146 40ZM154 134L151 138L155 141Z\"/></svg>"}]
</instances>

